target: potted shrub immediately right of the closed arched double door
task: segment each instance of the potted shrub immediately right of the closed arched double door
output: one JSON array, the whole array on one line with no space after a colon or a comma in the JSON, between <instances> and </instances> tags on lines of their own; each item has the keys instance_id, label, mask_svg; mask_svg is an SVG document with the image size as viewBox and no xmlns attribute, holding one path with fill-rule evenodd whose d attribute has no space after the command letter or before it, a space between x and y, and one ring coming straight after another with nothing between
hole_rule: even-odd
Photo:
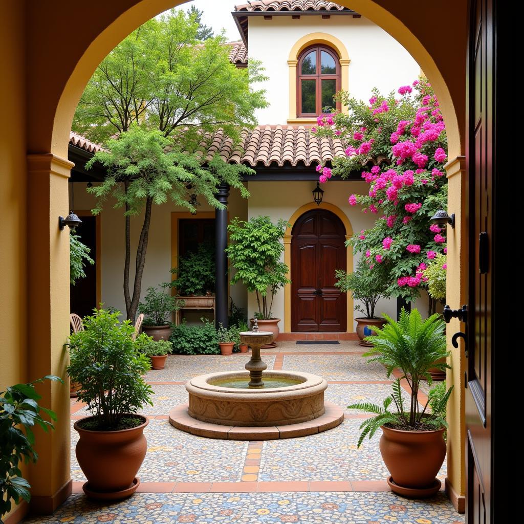
<instances>
[{"instance_id":1,"label":"potted shrub immediately right of the closed arched double door","mask_svg":"<svg viewBox=\"0 0 524 524\"><path fill-rule=\"evenodd\" d=\"M381 328L386 321L381 316L375 316L377 302L381 298L387 298L388 281L385 277L387 274L377 265L369 268L366 261L361 258L357 262L354 272L346 273L342 269L335 272L335 286L344 292L350 292L355 301L361 304L355 304L355 311L362 313L364 316L355 319L357 323L357 335L360 339L361 346L370 347L372 344L365 339L369 335L374 335L373 328Z\"/></svg>"}]
</instances>

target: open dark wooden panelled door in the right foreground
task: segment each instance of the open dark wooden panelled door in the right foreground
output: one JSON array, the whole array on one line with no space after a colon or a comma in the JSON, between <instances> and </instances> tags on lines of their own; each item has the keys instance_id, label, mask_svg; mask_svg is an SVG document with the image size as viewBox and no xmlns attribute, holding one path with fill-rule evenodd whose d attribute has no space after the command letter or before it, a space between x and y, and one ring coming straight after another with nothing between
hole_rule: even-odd
<instances>
[{"instance_id":1,"label":"open dark wooden panelled door in the right foreground","mask_svg":"<svg viewBox=\"0 0 524 524\"><path fill-rule=\"evenodd\" d=\"M466 172L469 301L466 386L467 524L493 519L495 41L493 0L471 2Z\"/></svg>"}]
</instances>

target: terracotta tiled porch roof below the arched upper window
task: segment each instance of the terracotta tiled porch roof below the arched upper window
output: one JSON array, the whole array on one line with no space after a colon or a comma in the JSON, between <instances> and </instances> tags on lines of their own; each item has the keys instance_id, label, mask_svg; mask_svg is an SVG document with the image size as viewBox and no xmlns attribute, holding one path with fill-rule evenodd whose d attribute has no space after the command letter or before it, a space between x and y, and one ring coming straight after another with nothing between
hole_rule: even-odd
<instances>
[{"instance_id":1,"label":"terracotta tiled porch roof below the arched upper window","mask_svg":"<svg viewBox=\"0 0 524 524\"><path fill-rule=\"evenodd\" d=\"M241 142L233 148L230 138L219 131L207 136L199 146L201 155L211 160L218 153L225 162L257 165L317 165L344 156L344 144L336 138L316 138L304 126L258 126L244 129Z\"/></svg>"}]
</instances>

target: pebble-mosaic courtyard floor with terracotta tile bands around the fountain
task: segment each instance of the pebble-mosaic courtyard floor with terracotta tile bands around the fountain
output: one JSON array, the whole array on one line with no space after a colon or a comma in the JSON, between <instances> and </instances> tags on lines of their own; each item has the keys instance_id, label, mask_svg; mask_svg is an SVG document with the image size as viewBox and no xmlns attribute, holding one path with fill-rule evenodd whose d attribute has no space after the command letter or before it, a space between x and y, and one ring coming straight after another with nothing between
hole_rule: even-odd
<instances>
[{"instance_id":1,"label":"pebble-mosaic courtyard floor with terracotta tile bands around the fountain","mask_svg":"<svg viewBox=\"0 0 524 524\"><path fill-rule=\"evenodd\" d=\"M142 482L132 498L118 504L88 501L74 456L78 440L72 424L87 413L72 401L71 477L73 496L51 517L26 522L194 522L257 524L462 524L450 501L439 493L413 501L389 492L388 472L378 449L379 435L357 449L362 413L347 410L356 401L381 402L391 380L379 364L366 364L356 342L297 345L283 342L263 354L268 369L294 369L325 377L325 398L345 409L337 428L298 439L265 442L205 439L173 428L171 408L187 402L183 384L195 375L242 369L248 357L179 356L166 369L150 371L155 391L145 430L148 453L138 472ZM421 393L419 401L424 402ZM439 473L443 481L445 463Z\"/></svg>"}]
</instances>

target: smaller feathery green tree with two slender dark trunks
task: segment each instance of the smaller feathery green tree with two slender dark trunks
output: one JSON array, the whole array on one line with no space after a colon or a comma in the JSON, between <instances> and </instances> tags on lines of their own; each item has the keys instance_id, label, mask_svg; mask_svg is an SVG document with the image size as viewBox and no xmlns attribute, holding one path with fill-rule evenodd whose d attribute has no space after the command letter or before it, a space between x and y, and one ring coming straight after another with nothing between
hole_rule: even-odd
<instances>
[{"instance_id":1,"label":"smaller feathery green tree with two slender dark trunks","mask_svg":"<svg viewBox=\"0 0 524 524\"><path fill-rule=\"evenodd\" d=\"M242 196L249 196L242 177L253 170L242 164L229 165L218 155L202 166L198 156L173 147L171 140L163 137L160 131L148 131L138 126L132 126L118 139L109 140L108 150L97 152L86 168L90 169L95 162L106 168L107 175L100 185L88 188L97 201L93 214L102 211L110 196L116 200L116 208L125 210L124 299L127 319L134 320L140 300L153 205L171 200L177 206L194 211L187 200L187 185L191 184L192 192L203 195L215 208L223 208L215 198L216 186L226 183L238 189ZM133 291L130 292L130 218L142 210L145 211L144 221L135 257Z\"/></svg>"}]
</instances>

